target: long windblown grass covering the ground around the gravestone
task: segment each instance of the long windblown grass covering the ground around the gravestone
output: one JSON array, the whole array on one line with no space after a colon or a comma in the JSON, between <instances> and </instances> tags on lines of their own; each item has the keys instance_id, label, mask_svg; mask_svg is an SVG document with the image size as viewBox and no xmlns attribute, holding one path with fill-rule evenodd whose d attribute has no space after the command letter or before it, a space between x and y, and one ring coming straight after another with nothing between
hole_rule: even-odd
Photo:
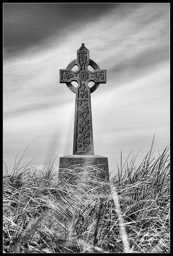
<instances>
[{"instance_id":1,"label":"long windblown grass covering the ground around the gravestone","mask_svg":"<svg viewBox=\"0 0 173 256\"><path fill-rule=\"evenodd\" d=\"M169 253L169 147L135 161L110 182L93 166L58 176L16 163L4 175L4 253Z\"/></svg>"}]
</instances>

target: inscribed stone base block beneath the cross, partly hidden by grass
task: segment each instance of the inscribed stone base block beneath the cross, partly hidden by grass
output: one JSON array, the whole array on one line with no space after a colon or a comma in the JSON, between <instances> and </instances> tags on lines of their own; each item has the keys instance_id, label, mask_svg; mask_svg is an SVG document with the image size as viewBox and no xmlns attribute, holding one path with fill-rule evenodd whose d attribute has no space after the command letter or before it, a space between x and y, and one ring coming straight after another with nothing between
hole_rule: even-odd
<instances>
[{"instance_id":1,"label":"inscribed stone base block beneath the cross, partly hidden by grass","mask_svg":"<svg viewBox=\"0 0 173 256\"><path fill-rule=\"evenodd\" d=\"M92 168L93 166L93 168ZM65 169L84 167L95 173L101 181L109 181L108 158L99 155L68 155L59 159L59 173ZM94 169L95 167L95 169Z\"/></svg>"}]
</instances>

